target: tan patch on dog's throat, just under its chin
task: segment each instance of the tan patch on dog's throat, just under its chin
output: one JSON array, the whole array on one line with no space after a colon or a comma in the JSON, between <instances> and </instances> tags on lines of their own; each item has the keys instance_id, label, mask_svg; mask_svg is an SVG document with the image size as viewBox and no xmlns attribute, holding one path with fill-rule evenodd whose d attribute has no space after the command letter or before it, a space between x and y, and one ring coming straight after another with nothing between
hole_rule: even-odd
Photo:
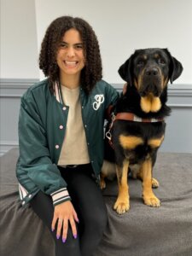
<instances>
[{"instance_id":1,"label":"tan patch on dog's throat, just under its chin","mask_svg":"<svg viewBox=\"0 0 192 256\"><path fill-rule=\"evenodd\" d=\"M141 108L145 113L157 112L161 108L161 102L159 97L154 97L152 94L141 97Z\"/></svg>"}]
</instances>

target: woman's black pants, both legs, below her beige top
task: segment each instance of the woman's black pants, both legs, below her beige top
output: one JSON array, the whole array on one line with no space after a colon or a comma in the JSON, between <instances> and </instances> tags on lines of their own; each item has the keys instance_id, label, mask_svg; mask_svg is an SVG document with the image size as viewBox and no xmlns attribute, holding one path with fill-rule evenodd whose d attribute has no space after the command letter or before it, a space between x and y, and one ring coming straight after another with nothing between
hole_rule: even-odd
<instances>
[{"instance_id":1,"label":"woman's black pants, both legs, below her beige top","mask_svg":"<svg viewBox=\"0 0 192 256\"><path fill-rule=\"evenodd\" d=\"M60 172L67 182L67 190L79 217L78 238L73 238L69 224L67 241L63 243L61 238L56 239L56 228L54 232L51 231L54 207L49 195L38 192L31 201L32 209L48 226L54 238L55 256L90 256L102 240L102 233L108 222L102 192L91 176L90 165L60 168Z\"/></svg>"}]
</instances>

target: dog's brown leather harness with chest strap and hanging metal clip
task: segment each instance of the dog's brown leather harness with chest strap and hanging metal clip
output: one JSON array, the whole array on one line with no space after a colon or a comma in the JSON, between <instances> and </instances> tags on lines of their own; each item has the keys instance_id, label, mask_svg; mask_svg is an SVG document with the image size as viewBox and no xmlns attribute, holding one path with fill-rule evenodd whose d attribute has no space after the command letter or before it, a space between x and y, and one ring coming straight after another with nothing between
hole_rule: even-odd
<instances>
[{"instance_id":1,"label":"dog's brown leather harness with chest strap and hanging metal clip","mask_svg":"<svg viewBox=\"0 0 192 256\"><path fill-rule=\"evenodd\" d=\"M112 143L112 134L111 134L111 130L113 127L113 123L116 120L125 120L125 121L132 121L132 122L141 122L141 123L158 123L158 122L162 122L164 119L142 119L139 118L137 115L135 115L134 113L130 113L130 112L121 112L121 113L117 113L116 115L114 113L112 113L112 121L111 124L109 125L109 130L106 132L106 137L108 138L108 143L110 144L110 146L113 148L113 143Z\"/></svg>"}]
</instances>

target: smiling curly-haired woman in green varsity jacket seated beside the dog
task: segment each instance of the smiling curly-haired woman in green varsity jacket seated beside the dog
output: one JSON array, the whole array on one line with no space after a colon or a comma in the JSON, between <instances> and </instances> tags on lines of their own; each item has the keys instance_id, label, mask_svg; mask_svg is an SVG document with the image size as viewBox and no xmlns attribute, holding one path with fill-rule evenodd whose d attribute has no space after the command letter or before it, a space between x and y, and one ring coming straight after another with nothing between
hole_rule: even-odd
<instances>
[{"instance_id":1,"label":"smiling curly-haired woman in green varsity jacket seated beside the dog","mask_svg":"<svg viewBox=\"0 0 192 256\"><path fill-rule=\"evenodd\" d=\"M79 18L49 25L39 67L47 79L20 104L20 200L48 226L56 256L90 256L107 224L98 186L103 122L118 93L102 80L96 34Z\"/></svg>"}]
</instances>

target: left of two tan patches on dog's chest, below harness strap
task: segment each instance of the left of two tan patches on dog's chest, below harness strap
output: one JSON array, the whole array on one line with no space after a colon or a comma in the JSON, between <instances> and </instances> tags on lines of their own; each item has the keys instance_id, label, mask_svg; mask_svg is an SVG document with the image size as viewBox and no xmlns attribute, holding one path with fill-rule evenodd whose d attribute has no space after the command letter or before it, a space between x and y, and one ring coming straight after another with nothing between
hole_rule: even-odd
<instances>
[{"instance_id":1,"label":"left of two tan patches on dog's chest, below harness strap","mask_svg":"<svg viewBox=\"0 0 192 256\"><path fill-rule=\"evenodd\" d=\"M141 137L120 135L119 143L125 149L134 149L144 142Z\"/></svg>"}]
</instances>

